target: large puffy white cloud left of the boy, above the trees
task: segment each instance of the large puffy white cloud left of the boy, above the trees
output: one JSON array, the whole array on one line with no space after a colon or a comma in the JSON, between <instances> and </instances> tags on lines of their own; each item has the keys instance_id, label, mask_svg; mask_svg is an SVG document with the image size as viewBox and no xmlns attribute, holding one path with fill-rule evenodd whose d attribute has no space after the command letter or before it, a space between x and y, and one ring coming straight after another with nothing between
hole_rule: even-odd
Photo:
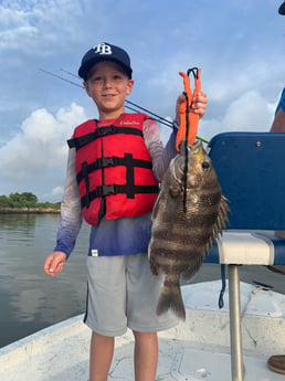
<instances>
[{"instance_id":1,"label":"large puffy white cloud left of the boy, above the trees","mask_svg":"<svg viewBox=\"0 0 285 381\"><path fill-rule=\"evenodd\" d=\"M21 125L21 130L0 148L1 187L11 183L32 191L61 172L64 178L67 145L76 125L86 119L83 107L72 103L53 115L45 108L34 110ZM62 179L63 181L63 179ZM13 191L19 191L14 189ZM53 195L60 188L51 184Z\"/></svg>"}]
</instances>

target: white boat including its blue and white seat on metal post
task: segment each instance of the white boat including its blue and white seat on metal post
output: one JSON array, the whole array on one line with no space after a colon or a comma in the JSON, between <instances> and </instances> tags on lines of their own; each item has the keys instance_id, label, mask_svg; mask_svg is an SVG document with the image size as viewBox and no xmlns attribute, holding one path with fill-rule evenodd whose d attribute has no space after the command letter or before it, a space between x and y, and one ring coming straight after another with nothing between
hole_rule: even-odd
<instances>
[{"instance_id":1,"label":"white boat including its blue and white seat on metal post","mask_svg":"<svg viewBox=\"0 0 285 381\"><path fill-rule=\"evenodd\" d=\"M186 321L159 332L157 381L284 380L267 358L285 354L285 295L239 276L241 265L285 265L284 147L285 134L224 133L210 141L231 214L205 262L226 266L228 285L224 276L181 287ZM86 381L89 329L82 319L0 349L1 381ZM116 339L109 380L134 380L133 350L130 331Z\"/></svg>"}]
</instances>

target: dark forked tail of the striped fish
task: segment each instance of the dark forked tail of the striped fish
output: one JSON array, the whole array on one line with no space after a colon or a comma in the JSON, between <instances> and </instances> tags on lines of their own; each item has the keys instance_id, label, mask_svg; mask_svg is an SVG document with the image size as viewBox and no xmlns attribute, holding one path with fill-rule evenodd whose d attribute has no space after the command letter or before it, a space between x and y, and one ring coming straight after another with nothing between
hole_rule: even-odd
<instances>
[{"instance_id":1,"label":"dark forked tail of the striped fish","mask_svg":"<svg viewBox=\"0 0 285 381\"><path fill-rule=\"evenodd\" d=\"M165 281L157 305L157 315L160 316L171 309L178 318L186 319L186 309L179 282Z\"/></svg>"}]
</instances>

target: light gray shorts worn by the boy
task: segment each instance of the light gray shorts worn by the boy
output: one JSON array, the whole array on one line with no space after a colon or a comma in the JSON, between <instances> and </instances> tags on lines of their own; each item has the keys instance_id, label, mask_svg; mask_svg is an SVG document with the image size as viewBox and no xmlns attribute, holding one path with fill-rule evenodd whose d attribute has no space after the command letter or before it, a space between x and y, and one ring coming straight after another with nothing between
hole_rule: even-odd
<instances>
[{"instance_id":1,"label":"light gray shorts worn by the boy","mask_svg":"<svg viewBox=\"0 0 285 381\"><path fill-rule=\"evenodd\" d=\"M120 336L127 327L156 332L177 325L171 311L156 315L162 276L150 274L146 254L87 256L87 274L84 321L93 331Z\"/></svg>"}]
</instances>

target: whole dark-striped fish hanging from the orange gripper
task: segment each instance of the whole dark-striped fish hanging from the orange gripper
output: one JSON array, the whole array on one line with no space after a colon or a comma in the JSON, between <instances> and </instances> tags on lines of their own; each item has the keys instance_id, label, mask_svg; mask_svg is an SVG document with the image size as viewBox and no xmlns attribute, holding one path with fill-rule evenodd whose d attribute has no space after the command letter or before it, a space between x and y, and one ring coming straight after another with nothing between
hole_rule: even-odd
<instances>
[{"instance_id":1,"label":"whole dark-striped fish hanging from the orange gripper","mask_svg":"<svg viewBox=\"0 0 285 381\"><path fill-rule=\"evenodd\" d=\"M165 274L157 315L172 309L184 320L180 278L189 281L201 267L229 221L228 212L226 199L202 142L189 146L183 141L165 173L151 216L150 271L154 275Z\"/></svg>"}]
</instances>

